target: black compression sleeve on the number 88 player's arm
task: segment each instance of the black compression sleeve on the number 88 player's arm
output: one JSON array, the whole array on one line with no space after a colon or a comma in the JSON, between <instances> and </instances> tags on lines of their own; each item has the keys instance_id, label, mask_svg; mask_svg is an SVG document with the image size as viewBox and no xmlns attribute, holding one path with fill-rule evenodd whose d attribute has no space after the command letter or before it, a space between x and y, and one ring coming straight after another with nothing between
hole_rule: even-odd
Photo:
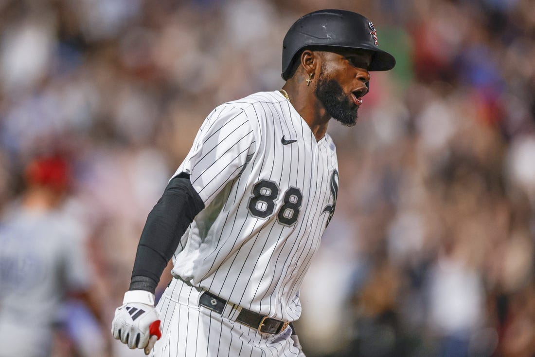
<instances>
[{"instance_id":1,"label":"black compression sleeve on the number 88 player's arm","mask_svg":"<svg viewBox=\"0 0 535 357\"><path fill-rule=\"evenodd\" d=\"M180 238L203 209L204 203L188 174L181 173L169 182L141 233L129 290L154 294Z\"/></svg>"}]
</instances>

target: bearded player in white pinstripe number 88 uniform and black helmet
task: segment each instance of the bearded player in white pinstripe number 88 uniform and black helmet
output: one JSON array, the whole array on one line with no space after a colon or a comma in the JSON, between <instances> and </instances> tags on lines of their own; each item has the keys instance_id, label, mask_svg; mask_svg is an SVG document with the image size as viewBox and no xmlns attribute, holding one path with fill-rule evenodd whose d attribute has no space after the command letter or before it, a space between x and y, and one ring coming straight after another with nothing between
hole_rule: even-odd
<instances>
[{"instance_id":1,"label":"bearded player in white pinstripe number 88 uniform and black helmet","mask_svg":"<svg viewBox=\"0 0 535 357\"><path fill-rule=\"evenodd\" d=\"M354 125L369 71L394 67L377 46L360 14L309 13L285 36L284 87L208 115L147 218L114 338L153 356L304 355L299 287L338 191L327 124Z\"/></svg>"}]
</instances>

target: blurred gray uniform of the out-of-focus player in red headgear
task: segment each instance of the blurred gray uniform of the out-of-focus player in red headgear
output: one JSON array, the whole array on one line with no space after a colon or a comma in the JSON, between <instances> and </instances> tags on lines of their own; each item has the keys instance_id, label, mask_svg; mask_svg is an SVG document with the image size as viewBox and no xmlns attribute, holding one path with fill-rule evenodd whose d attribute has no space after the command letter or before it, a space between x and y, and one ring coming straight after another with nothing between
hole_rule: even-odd
<instances>
[{"instance_id":1,"label":"blurred gray uniform of the out-of-focus player in red headgear","mask_svg":"<svg viewBox=\"0 0 535 357\"><path fill-rule=\"evenodd\" d=\"M49 355L64 294L90 279L83 230L59 213L18 207L0 226L0 356Z\"/></svg>"}]
</instances>

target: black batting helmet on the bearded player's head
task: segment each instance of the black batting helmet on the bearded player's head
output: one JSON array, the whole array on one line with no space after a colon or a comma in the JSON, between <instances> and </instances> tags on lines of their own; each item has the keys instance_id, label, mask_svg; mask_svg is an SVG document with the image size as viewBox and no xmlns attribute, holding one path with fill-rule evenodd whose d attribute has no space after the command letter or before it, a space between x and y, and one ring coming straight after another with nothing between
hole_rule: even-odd
<instances>
[{"instance_id":1,"label":"black batting helmet on the bearded player's head","mask_svg":"<svg viewBox=\"0 0 535 357\"><path fill-rule=\"evenodd\" d=\"M394 68L394 56L377 47L377 32L361 14L346 10L319 10L290 27L282 41L282 79L288 80L296 55L307 47L355 48L373 53L369 71Z\"/></svg>"}]
</instances>

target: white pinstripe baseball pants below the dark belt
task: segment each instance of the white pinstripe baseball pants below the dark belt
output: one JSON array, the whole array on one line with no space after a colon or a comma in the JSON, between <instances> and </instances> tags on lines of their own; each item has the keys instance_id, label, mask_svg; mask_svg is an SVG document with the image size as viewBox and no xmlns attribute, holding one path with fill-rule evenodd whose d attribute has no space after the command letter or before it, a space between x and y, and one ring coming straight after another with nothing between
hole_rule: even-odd
<instances>
[{"instance_id":1,"label":"white pinstripe baseball pants below the dark belt","mask_svg":"<svg viewBox=\"0 0 535 357\"><path fill-rule=\"evenodd\" d=\"M162 320L162 338L152 349L152 357L300 355L291 338L291 328L279 334L259 333L235 322L240 308L232 303L227 303L221 315L199 306L202 293L200 288L172 279L156 306Z\"/></svg>"}]
</instances>

